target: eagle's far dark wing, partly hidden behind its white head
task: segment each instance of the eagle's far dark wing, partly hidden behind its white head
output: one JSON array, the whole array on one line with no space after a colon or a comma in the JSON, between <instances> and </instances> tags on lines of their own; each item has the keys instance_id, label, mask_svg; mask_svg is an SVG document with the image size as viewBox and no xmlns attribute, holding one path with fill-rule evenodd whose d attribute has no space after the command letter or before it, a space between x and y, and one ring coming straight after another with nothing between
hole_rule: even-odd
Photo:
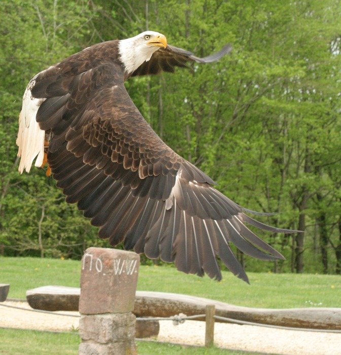
<instances>
[{"instance_id":1,"label":"eagle's far dark wing, partly hidden behind its white head","mask_svg":"<svg viewBox=\"0 0 341 355\"><path fill-rule=\"evenodd\" d=\"M199 58L193 55L192 52L167 45L166 48L159 48L156 52L154 52L150 60L140 65L139 68L131 74L131 76L159 74L162 71L174 73L176 66L186 67L186 63L188 61L195 61L197 63L212 63L229 53L231 49L231 45L227 44L219 52L213 53L204 58Z\"/></svg>"}]
</instances>

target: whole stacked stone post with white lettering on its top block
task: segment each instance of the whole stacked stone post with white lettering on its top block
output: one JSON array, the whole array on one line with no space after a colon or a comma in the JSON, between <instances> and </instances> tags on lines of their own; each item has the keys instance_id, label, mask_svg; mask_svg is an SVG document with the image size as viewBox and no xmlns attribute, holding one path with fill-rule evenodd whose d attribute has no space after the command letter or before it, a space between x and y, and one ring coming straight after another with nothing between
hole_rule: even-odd
<instances>
[{"instance_id":1,"label":"whole stacked stone post with white lettering on its top block","mask_svg":"<svg viewBox=\"0 0 341 355\"><path fill-rule=\"evenodd\" d=\"M90 247L82 258L79 354L136 354L132 314L140 256Z\"/></svg>"}]
</instances>

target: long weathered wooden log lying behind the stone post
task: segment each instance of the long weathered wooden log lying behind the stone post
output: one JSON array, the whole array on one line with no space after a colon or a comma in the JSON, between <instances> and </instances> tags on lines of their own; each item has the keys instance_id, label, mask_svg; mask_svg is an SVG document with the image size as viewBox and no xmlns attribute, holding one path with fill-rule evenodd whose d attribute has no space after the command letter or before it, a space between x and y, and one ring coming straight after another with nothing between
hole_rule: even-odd
<instances>
[{"instance_id":1,"label":"long weathered wooden log lying behind the stone post","mask_svg":"<svg viewBox=\"0 0 341 355\"><path fill-rule=\"evenodd\" d=\"M29 305L36 309L65 310L62 292L54 293L51 297L51 292L54 292L53 288L60 287L45 286L27 291L26 298ZM46 294L45 290L49 293ZM77 290L79 299L80 291L75 289L75 293ZM70 309L71 306L68 305L67 310L77 311L76 303L73 303L73 309ZM179 313L196 315L203 314L208 304L215 305L216 315L240 321L293 328L341 330L341 308L251 308L207 298L164 292L137 291L133 313L138 317L169 317ZM199 320L204 321L205 318L202 317ZM217 319L216 322L224 321Z\"/></svg>"}]
</instances>

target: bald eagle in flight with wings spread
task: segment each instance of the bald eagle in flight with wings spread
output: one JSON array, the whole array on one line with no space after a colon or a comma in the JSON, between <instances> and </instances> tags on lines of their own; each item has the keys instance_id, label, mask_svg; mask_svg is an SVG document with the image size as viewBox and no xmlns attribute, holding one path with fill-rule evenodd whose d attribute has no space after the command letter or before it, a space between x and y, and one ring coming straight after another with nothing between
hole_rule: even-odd
<instances>
[{"instance_id":1,"label":"bald eagle in flight with wings spread","mask_svg":"<svg viewBox=\"0 0 341 355\"><path fill-rule=\"evenodd\" d=\"M245 226L262 224L224 196L214 181L169 148L130 99L124 81L174 72L187 62L209 63L230 52L199 58L146 31L99 43L33 77L23 96L17 138L19 171L48 163L66 201L78 204L100 238L178 270L221 279L217 257L248 277L231 250L262 260L284 259Z\"/></svg>"}]
</instances>

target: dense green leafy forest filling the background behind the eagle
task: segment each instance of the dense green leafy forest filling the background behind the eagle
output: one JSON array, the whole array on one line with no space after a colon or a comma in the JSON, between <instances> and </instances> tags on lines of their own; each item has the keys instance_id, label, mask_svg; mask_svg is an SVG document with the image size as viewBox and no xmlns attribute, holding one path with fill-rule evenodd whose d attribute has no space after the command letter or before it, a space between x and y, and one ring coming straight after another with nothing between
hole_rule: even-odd
<instances>
[{"instance_id":1,"label":"dense green leafy forest filling the background behind the eagle","mask_svg":"<svg viewBox=\"0 0 341 355\"><path fill-rule=\"evenodd\" d=\"M263 222L285 261L249 271L341 273L341 2L78 0L0 3L0 255L80 259L97 238L43 169L18 173L22 95L44 68L146 29L219 62L126 83L161 138ZM146 262L146 260L145 260Z\"/></svg>"}]
</instances>

